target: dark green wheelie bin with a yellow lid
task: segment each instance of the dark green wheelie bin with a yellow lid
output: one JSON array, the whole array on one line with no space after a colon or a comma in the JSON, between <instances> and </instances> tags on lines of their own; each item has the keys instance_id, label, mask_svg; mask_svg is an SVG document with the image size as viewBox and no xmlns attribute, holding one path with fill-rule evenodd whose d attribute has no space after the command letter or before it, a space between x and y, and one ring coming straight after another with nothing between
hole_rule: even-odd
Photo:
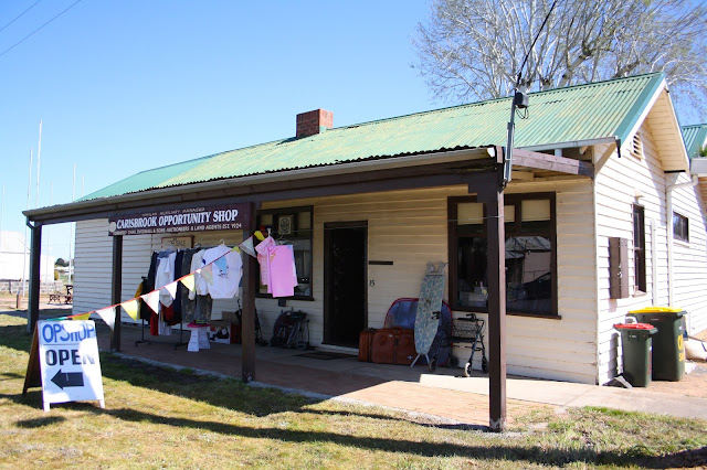
<instances>
[{"instance_id":1,"label":"dark green wheelie bin with a yellow lid","mask_svg":"<svg viewBox=\"0 0 707 470\"><path fill-rule=\"evenodd\" d=\"M630 311L641 323L658 329L653 337L653 380L677 382L685 374L683 317L687 312L673 307L648 307Z\"/></svg>"}]
</instances>

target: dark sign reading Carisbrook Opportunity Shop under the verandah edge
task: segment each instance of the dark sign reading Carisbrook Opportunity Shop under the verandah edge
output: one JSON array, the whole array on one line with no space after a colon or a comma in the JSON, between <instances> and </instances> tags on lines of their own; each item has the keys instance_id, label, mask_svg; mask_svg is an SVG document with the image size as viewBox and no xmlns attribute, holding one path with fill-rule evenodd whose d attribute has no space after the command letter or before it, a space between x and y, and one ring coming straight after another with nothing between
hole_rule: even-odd
<instances>
[{"instance_id":1,"label":"dark sign reading Carisbrook Opportunity Shop under the verandah edge","mask_svg":"<svg viewBox=\"0 0 707 470\"><path fill-rule=\"evenodd\" d=\"M115 215L109 235L175 234L181 232L242 229L247 204L196 206L143 214Z\"/></svg>"}]
</instances>

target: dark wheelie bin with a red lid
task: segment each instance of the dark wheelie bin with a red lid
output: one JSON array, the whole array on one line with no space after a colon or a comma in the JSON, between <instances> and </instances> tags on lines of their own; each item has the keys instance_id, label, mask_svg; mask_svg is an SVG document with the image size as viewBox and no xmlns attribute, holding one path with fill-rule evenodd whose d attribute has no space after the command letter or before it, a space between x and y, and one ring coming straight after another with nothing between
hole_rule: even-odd
<instances>
[{"instance_id":1,"label":"dark wheelie bin with a red lid","mask_svg":"<svg viewBox=\"0 0 707 470\"><path fill-rule=\"evenodd\" d=\"M651 337L657 329L648 323L619 323L614 328L621 333L623 375L634 387L651 384Z\"/></svg>"}]
</instances>

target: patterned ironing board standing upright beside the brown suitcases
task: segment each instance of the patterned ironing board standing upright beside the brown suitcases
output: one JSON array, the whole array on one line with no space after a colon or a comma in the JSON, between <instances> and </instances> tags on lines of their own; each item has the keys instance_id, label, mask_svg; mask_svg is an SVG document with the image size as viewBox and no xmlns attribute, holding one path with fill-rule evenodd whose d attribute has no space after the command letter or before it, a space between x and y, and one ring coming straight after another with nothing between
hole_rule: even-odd
<instances>
[{"instance_id":1,"label":"patterned ironing board standing upright beside the brown suitcases","mask_svg":"<svg viewBox=\"0 0 707 470\"><path fill-rule=\"evenodd\" d=\"M418 355L410 365L411 367L415 365L421 355L424 355L430 364L430 348L440 328L440 312L444 296L444 268L446 268L446 263L440 263L439 267L428 263L415 313L414 334Z\"/></svg>"}]
</instances>

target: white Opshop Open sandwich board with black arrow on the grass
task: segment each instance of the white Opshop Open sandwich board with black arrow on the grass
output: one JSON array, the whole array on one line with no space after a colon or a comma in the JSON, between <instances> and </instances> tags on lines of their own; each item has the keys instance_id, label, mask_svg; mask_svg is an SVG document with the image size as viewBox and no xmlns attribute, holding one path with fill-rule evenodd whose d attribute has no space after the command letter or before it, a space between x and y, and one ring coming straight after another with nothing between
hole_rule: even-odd
<instances>
[{"instance_id":1,"label":"white Opshop Open sandwich board with black arrow on the grass","mask_svg":"<svg viewBox=\"0 0 707 470\"><path fill-rule=\"evenodd\" d=\"M22 394L40 385L45 412L53 403L85 399L97 399L105 408L93 320L36 322Z\"/></svg>"}]
</instances>

